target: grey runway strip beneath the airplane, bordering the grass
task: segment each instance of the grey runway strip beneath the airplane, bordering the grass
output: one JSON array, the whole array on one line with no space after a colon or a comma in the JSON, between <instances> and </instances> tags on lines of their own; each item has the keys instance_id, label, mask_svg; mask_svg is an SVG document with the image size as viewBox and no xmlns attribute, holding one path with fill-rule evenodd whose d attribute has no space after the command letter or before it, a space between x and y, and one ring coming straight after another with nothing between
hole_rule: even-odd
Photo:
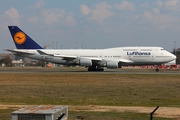
<instances>
[{"instance_id":1,"label":"grey runway strip beneath the airplane, bordering the grass","mask_svg":"<svg viewBox=\"0 0 180 120\"><path fill-rule=\"evenodd\" d=\"M155 69L105 69L103 72L89 72L86 68L41 68L41 67L1 67L0 73L59 73L59 74L180 74L180 69L160 69L156 72Z\"/></svg>"}]
</instances>

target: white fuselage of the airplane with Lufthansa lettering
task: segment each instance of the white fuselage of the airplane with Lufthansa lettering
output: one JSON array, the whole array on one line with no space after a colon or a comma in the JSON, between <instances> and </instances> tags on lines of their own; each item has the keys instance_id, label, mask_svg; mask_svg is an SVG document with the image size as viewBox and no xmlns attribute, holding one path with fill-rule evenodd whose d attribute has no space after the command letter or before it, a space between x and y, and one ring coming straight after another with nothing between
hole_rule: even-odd
<instances>
[{"instance_id":1,"label":"white fuselage of the airplane with Lufthansa lettering","mask_svg":"<svg viewBox=\"0 0 180 120\"><path fill-rule=\"evenodd\" d=\"M37 50L15 49L29 54L17 54L20 56L48 61L64 65L80 65L80 59L90 59L100 66L106 66L107 62L117 62L122 65L155 65L163 64L176 59L176 56L161 47L118 47L109 49L40 49L46 54L40 54ZM72 56L72 58L71 58ZM68 59L65 59L65 58ZM77 57L77 58L74 58Z\"/></svg>"}]
</instances>

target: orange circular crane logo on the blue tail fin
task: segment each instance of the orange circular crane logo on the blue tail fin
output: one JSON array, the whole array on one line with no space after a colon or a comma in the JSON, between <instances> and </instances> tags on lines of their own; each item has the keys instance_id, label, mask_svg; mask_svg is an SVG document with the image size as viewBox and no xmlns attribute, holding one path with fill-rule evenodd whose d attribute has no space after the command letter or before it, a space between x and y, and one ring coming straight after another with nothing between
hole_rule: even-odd
<instances>
[{"instance_id":1,"label":"orange circular crane logo on the blue tail fin","mask_svg":"<svg viewBox=\"0 0 180 120\"><path fill-rule=\"evenodd\" d=\"M14 41L17 44L23 44L26 41L26 35L23 32L17 32L14 35Z\"/></svg>"}]
</instances>

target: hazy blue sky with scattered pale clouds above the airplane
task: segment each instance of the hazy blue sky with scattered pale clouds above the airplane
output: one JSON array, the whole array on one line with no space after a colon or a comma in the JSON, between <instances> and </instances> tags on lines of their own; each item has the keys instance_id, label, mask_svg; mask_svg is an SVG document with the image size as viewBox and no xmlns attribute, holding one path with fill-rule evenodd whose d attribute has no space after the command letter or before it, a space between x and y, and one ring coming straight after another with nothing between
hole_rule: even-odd
<instances>
[{"instance_id":1,"label":"hazy blue sky with scattered pale clouds above the airplane","mask_svg":"<svg viewBox=\"0 0 180 120\"><path fill-rule=\"evenodd\" d=\"M180 0L1 0L0 53L8 26L49 49L180 47Z\"/></svg>"}]
</instances>

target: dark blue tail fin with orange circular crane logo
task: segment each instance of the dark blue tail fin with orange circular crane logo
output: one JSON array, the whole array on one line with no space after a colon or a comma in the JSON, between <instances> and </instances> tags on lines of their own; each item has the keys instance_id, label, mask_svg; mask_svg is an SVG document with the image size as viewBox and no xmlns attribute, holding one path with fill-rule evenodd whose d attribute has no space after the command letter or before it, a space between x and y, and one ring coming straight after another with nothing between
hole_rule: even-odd
<instances>
[{"instance_id":1,"label":"dark blue tail fin with orange circular crane logo","mask_svg":"<svg viewBox=\"0 0 180 120\"><path fill-rule=\"evenodd\" d=\"M8 26L17 49L43 49L17 26Z\"/></svg>"}]
</instances>

